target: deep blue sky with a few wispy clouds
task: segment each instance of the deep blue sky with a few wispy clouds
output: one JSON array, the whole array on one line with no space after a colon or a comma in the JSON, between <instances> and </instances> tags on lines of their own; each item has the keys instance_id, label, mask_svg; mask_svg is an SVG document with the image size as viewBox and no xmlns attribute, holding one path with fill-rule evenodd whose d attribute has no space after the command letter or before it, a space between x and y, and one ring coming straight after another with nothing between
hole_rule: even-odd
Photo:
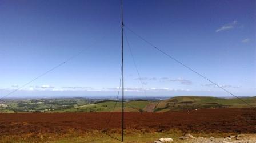
<instances>
[{"instance_id":1,"label":"deep blue sky with a few wispy clouds","mask_svg":"<svg viewBox=\"0 0 256 143\"><path fill-rule=\"evenodd\" d=\"M255 96L255 1L124 0L125 26L237 96ZM0 0L0 95L115 96L120 1ZM147 96L230 96L125 30ZM125 40L125 94L144 96Z\"/></svg>"}]
</instances>

